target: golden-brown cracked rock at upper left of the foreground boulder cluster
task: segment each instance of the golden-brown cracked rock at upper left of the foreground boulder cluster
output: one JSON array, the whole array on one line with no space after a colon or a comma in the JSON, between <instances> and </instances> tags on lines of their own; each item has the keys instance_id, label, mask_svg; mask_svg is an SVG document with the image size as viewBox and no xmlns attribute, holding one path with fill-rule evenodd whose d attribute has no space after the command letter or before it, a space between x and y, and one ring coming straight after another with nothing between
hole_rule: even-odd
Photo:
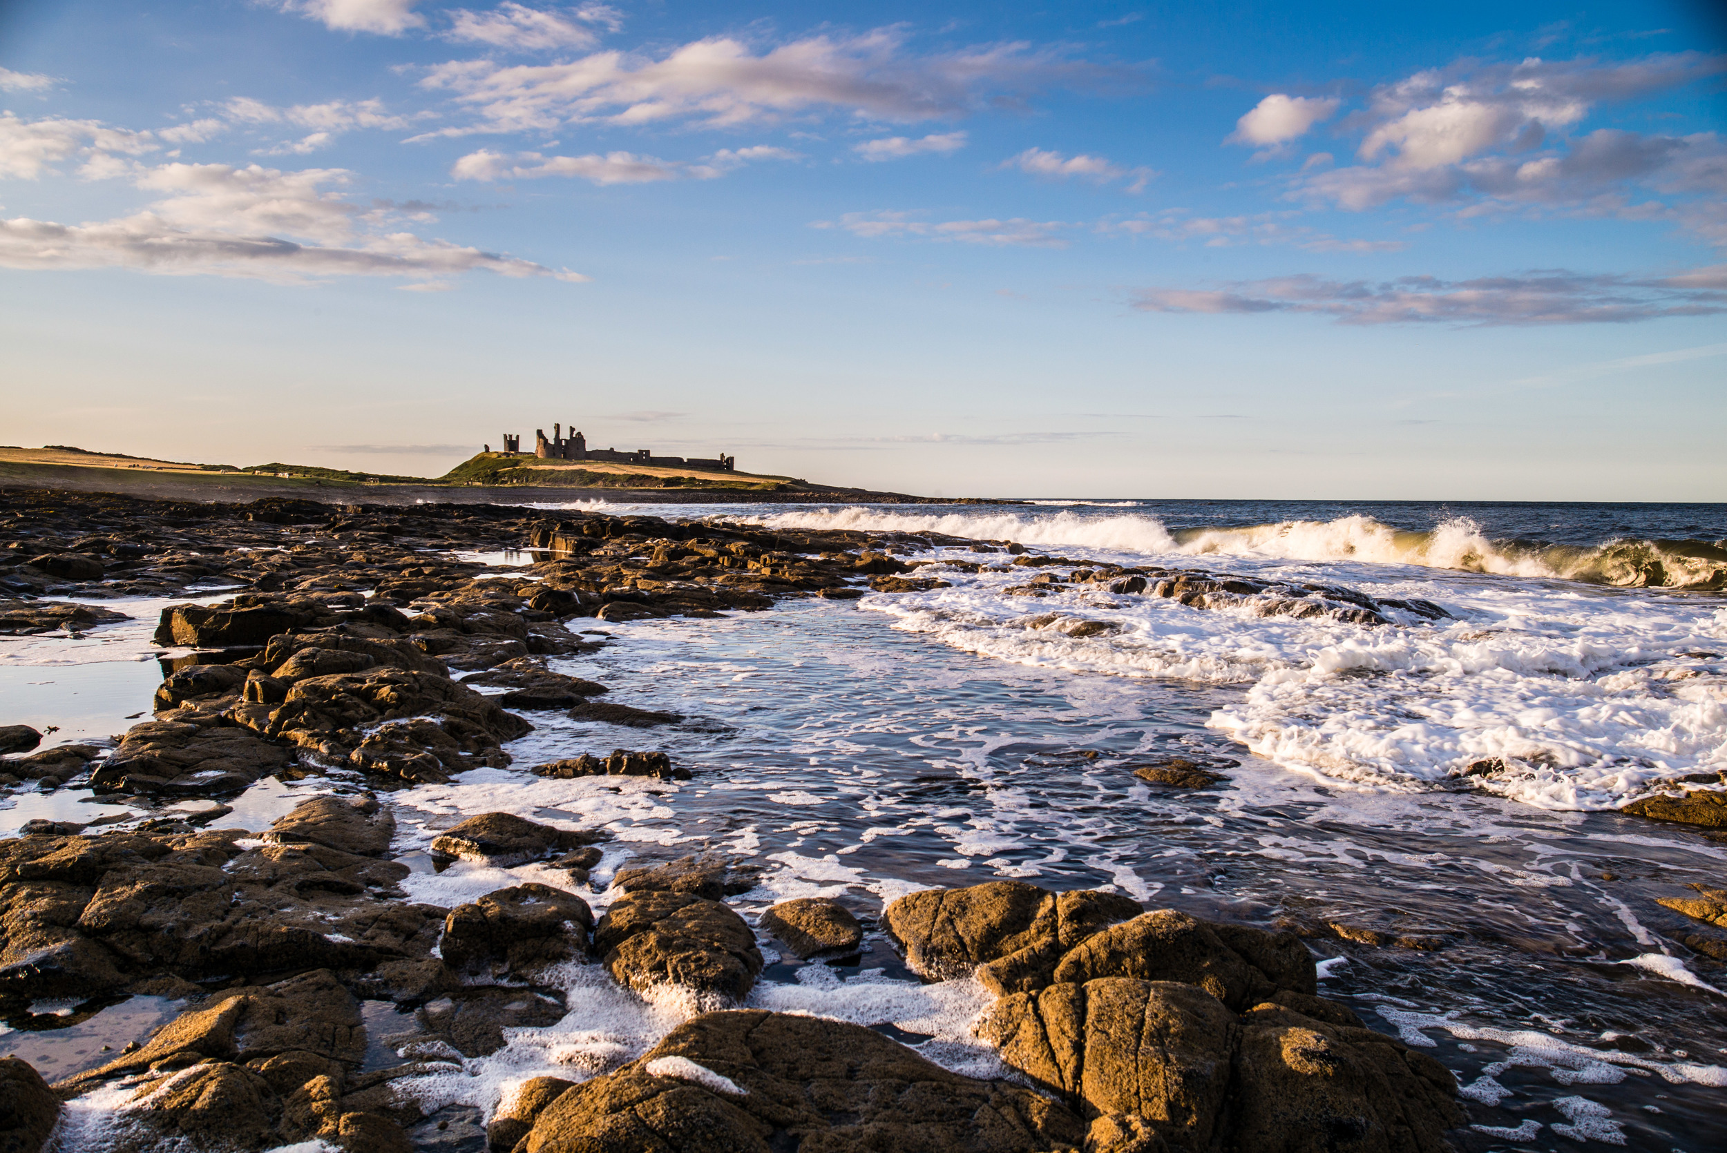
<instances>
[{"instance_id":1,"label":"golden-brown cracked rock at upper left of the foreground boulder cluster","mask_svg":"<svg viewBox=\"0 0 1727 1153\"><path fill-rule=\"evenodd\" d=\"M926 977L969 975L996 992L1034 989L1053 979L1064 953L1105 925L1138 915L1119 894L1053 894L1022 880L965 889L926 889L888 906L882 923Z\"/></svg>"}]
</instances>

